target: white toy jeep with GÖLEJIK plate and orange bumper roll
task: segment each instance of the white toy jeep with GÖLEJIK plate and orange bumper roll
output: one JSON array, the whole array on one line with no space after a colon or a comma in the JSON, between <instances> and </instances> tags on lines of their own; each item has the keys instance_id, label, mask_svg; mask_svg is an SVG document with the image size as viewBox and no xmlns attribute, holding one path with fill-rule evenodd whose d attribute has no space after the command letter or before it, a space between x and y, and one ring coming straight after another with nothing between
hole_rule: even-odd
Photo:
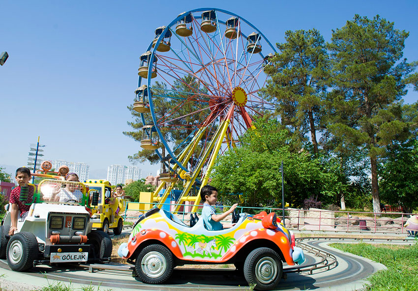
<instances>
[{"instance_id":1,"label":"white toy jeep with G\u00d6LEJIK plate and orange bumper roll","mask_svg":"<svg viewBox=\"0 0 418 291\"><path fill-rule=\"evenodd\" d=\"M30 205L28 216L17 231L9 235L11 212L8 209L0 226L0 259L14 271L25 271L36 264L59 262L107 261L112 254L112 240L107 233L91 231L90 204L97 204L97 193L80 182L45 179L35 185L33 197L24 197ZM37 191L36 191L37 190ZM66 198L62 193L74 193ZM22 191L21 191L22 192ZM71 194L73 195L73 194Z\"/></svg>"}]
</instances>

